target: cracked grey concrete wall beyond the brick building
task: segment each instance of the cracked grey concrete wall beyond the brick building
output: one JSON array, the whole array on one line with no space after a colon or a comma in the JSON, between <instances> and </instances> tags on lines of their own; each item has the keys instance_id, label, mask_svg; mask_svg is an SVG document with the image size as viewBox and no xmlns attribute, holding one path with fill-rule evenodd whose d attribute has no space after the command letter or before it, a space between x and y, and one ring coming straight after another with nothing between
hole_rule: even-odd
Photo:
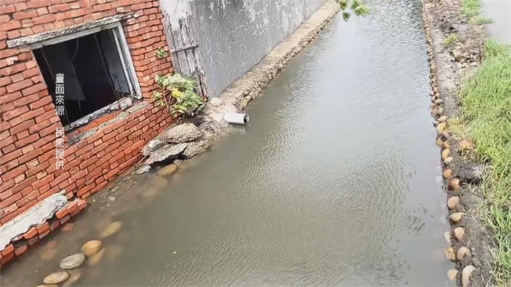
<instances>
[{"instance_id":1,"label":"cracked grey concrete wall beyond the brick building","mask_svg":"<svg viewBox=\"0 0 511 287\"><path fill-rule=\"evenodd\" d=\"M171 21L191 14L196 22L211 98L257 64L325 1L162 0L161 6Z\"/></svg>"}]
</instances>

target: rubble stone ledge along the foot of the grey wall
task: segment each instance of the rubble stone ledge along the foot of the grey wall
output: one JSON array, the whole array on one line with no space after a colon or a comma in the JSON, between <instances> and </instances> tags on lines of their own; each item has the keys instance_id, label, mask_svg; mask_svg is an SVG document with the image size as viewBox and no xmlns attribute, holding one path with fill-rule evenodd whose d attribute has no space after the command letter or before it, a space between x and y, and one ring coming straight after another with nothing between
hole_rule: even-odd
<instances>
[{"instance_id":1,"label":"rubble stone ledge along the foot of the grey wall","mask_svg":"<svg viewBox=\"0 0 511 287\"><path fill-rule=\"evenodd\" d=\"M339 4L328 0L257 65L227 87L218 98L211 99L200 115L183 120L148 142L142 150L146 157L144 165L136 173L147 172L153 165L169 164L204 152L227 132L228 124L223 114L239 112L257 98L267 83L317 36L338 11ZM172 173L175 165L168 166L166 170L159 174Z\"/></svg>"}]
</instances>

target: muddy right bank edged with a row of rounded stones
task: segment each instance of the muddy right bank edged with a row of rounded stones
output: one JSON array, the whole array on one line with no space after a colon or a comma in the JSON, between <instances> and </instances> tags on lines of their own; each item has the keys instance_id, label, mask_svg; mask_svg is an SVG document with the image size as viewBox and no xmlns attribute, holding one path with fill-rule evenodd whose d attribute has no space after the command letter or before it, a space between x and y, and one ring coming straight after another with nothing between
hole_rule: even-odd
<instances>
[{"instance_id":1,"label":"muddy right bank edged with a row of rounded stones","mask_svg":"<svg viewBox=\"0 0 511 287\"><path fill-rule=\"evenodd\" d=\"M473 158L473 145L450 130L450 119L457 117L456 93L460 82L481 63L486 40L483 26L474 26L460 15L458 0L425 0L423 22L428 41L431 83L431 115L438 131L437 145L443 165L444 186L451 229L446 239L451 248L446 256L455 262L449 277L462 286L492 285L493 241L485 228L479 205L480 183L485 167ZM457 35L451 44L448 39Z\"/></svg>"}]
</instances>

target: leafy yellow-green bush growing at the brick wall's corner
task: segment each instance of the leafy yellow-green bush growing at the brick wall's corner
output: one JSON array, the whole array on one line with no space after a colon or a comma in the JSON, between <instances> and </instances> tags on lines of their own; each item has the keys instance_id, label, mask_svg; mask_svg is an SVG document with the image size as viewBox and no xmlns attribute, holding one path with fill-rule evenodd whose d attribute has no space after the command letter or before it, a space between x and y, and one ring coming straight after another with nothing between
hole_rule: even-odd
<instances>
[{"instance_id":1,"label":"leafy yellow-green bush growing at the brick wall's corner","mask_svg":"<svg viewBox=\"0 0 511 287\"><path fill-rule=\"evenodd\" d=\"M181 74L156 75L158 89L151 97L156 106L167 107L173 117L194 116L204 104L197 94L197 81Z\"/></svg>"}]
</instances>

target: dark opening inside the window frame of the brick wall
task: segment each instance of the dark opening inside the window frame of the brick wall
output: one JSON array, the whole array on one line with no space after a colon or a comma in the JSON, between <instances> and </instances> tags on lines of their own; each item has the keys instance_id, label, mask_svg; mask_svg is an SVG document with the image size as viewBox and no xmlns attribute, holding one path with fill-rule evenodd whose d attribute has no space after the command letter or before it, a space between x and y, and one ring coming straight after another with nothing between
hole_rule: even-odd
<instances>
[{"instance_id":1,"label":"dark opening inside the window frame of the brick wall","mask_svg":"<svg viewBox=\"0 0 511 287\"><path fill-rule=\"evenodd\" d=\"M55 75L64 74L63 126L131 94L112 30L34 50L55 103Z\"/></svg>"}]
</instances>

